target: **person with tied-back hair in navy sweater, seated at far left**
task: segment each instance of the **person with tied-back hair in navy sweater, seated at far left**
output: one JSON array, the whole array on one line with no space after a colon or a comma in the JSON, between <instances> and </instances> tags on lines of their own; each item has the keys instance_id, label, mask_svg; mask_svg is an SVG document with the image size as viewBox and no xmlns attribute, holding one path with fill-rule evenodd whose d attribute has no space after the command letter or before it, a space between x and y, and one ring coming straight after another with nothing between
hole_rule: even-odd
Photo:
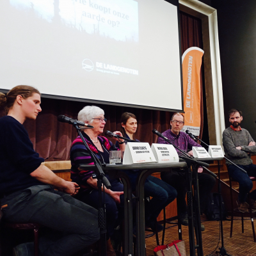
<instances>
[{"instance_id":1,"label":"person with tied-back hair in navy sweater, seated at far left","mask_svg":"<svg viewBox=\"0 0 256 256\"><path fill-rule=\"evenodd\" d=\"M0 118L1 209L5 220L49 227L51 239L45 234L39 240L41 255L68 256L99 240L98 212L73 198L79 189L76 182L55 175L33 149L22 124L36 119L40 103L40 92L31 86L0 93L0 107L7 113ZM34 255L33 243L13 250L13 255Z\"/></svg>"}]
</instances>

